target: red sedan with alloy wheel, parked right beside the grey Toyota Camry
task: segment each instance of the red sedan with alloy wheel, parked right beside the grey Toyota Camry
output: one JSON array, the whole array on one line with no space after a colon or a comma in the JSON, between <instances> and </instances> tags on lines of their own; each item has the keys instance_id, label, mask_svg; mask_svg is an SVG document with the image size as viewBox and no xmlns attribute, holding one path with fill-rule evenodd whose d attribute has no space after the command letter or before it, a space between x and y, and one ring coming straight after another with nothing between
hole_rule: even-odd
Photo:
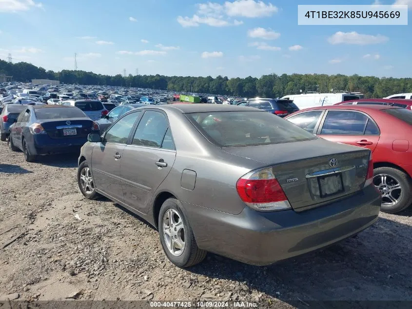
<instances>
[{"instance_id":1,"label":"red sedan with alloy wheel, parked right beside the grey Toyota Camry","mask_svg":"<svg viewBox=\"0 0 412 309\"><path fill-rule=\"evenodd\" d=\"M331 105L285 119L329 141L369 148L381 210L395 213L412 202L412 111L386 105Z\"/></svg>"}]
</instances>

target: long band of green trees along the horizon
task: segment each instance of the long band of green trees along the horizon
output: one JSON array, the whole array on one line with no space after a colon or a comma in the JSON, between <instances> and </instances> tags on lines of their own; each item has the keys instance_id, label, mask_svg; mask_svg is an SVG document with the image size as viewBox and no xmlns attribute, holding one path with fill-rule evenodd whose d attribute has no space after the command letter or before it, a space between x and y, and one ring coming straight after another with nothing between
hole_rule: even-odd
<instances>
[{"instance_id":1,"label":"long band of green trees along the horizon","mask_svg":"<svg viewBox=\"0 0 412 309\"><path fill-rule=\"evenodd\" d=\"M13 76L14 81L32 79L59 80L68 84L130 86L170 90L176 92L211 93L236 97L280 98L287 94L319 91L362 92L366 98L383 98L395 93L412 92L411 78L377 78L374 76L346 76L342 74L269 74L260 78L213 78L192 76L131 75L110 76L80 70L46 71L27 62L10 63L0 60L0 74Z\"/></svg>"}]
</instances>

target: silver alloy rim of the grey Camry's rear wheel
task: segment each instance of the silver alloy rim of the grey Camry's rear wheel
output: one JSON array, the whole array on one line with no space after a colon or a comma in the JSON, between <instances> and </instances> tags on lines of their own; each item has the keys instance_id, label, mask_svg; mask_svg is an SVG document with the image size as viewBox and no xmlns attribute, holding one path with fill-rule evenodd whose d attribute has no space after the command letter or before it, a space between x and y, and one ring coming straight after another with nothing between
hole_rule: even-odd
<instances>
[{"instance_id":1,"label":"silver alloy rim of the grey Camry's rear wheel","mask_svg":"<svg viewBox=\"0 0 412 309\"><path fill-rule=\"evenodd\" d=\"M168 209L163 216L163 235L170 253L179 256L185 247L185 230L180 214Z\"/></svg>"}]
</instances>

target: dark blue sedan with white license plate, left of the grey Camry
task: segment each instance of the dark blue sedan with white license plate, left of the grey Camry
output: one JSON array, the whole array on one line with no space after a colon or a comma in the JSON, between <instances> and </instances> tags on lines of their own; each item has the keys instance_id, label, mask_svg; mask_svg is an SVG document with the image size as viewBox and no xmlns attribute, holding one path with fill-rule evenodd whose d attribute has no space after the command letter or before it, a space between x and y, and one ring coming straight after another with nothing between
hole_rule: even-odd
<instances>
[{"instance_id":1,"label":"dark blue sedan with white license plate, left of the grey Camry","mask_svg":"<svg viewBox=\"0 0 412 309\"><path fill-rule=\"evenodd\" d=\"M75 106L27 105L10 122L10 148L22 150L27 162L38 155L77 152L89 133L98 132L98 124Z\"/></svg>"}]
</instances>

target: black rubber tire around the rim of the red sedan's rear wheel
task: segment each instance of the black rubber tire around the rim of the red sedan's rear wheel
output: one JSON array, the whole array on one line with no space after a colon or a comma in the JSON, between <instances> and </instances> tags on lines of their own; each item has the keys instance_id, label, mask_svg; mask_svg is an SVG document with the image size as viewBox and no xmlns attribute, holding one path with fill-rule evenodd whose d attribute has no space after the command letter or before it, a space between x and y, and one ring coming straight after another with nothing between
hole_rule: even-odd
<instances>
[{"instance_id":1,"label":"black rubber tire around the rim of the red sedan's rear wheel","mask_svg":"<svg viewBox=\"0 0 412 309\"><path fill-rule=\"evenodd\" d=\"M401 185L402 195L398 202L393 206L381 206L381 211L387 213L397 213L411 205L412 199L412 180L409 175L403 171L393 167L378 167L373 170L373 177L381 174L386 174L392 177L399 185ZM376 183L376 182L374 182Z\"/></svg>"}]
</instances>

